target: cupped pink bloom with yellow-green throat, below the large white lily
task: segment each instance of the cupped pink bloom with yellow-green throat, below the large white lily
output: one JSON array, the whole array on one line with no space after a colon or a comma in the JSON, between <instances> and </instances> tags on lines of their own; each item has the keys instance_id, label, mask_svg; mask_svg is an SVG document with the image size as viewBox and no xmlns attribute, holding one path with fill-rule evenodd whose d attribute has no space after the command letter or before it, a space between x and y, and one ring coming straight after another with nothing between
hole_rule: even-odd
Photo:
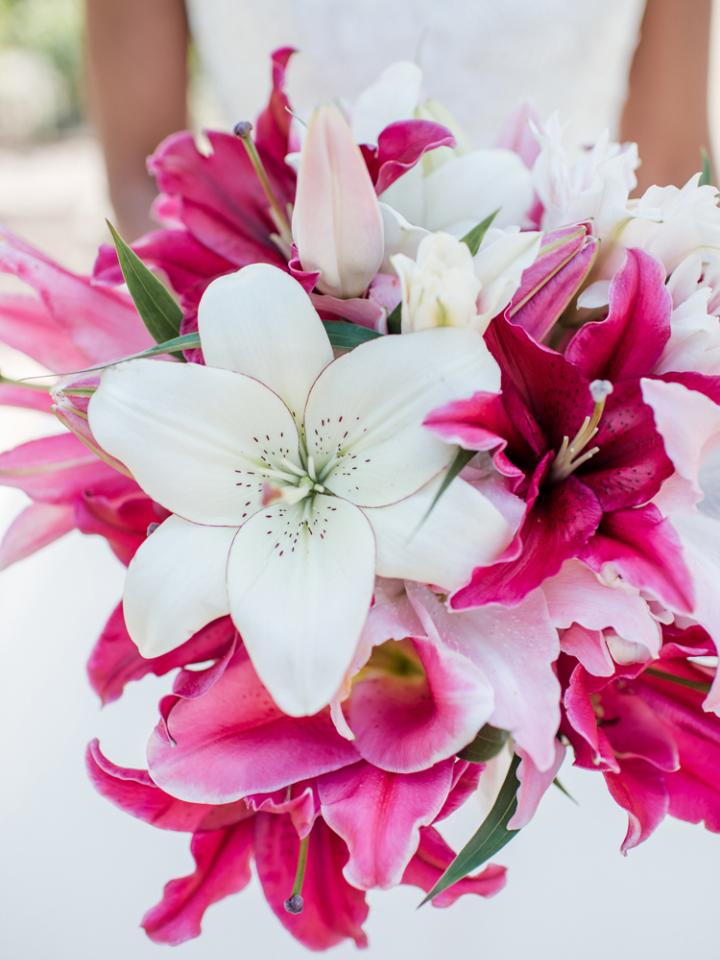
<instances>
[{"instance_id":1,"label":"cupped pink bloom with yellow-green throat, below the large white lily","mask_svg":"<svg viewBox=\"0 0 720 960\"><path fill-rule=\"evenodd\" d=\"M369 667L346 708L360 755L396 773L425 770L462 750L494 706L487 678L462 654L424 637L413 646L414 674Z\"/></svg>"}]
</instances>

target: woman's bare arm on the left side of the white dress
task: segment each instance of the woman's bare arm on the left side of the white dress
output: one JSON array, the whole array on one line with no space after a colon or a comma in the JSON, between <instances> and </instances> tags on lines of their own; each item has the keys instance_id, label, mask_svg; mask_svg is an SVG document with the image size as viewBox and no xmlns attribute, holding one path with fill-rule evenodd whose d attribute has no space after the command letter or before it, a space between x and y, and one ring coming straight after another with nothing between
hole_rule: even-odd
<instances>
[{"instance_id":1,"label":"woman's bare arm on the left side of the white dress","mask_svg":"<svg viewBox=\"0 0 720 960\"><path fill-rule=\"evenodd\" d=\"M88 90L122 233L151 226L145 158L187 125L183 0L86 0Z\"/></svg>"}]
</instances>

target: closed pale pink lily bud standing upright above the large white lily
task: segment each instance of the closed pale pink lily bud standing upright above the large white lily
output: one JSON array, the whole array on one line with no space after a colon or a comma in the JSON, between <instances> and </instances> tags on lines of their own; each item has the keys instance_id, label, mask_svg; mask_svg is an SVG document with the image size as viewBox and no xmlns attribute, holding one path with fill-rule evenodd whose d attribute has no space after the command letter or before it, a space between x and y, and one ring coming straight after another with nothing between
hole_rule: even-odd
<instances>
[{"instance_id":1,"label":"closed pale pink lily bud standing upright above the large white lily","mask_svg":"<svg viewBox=\"0 0 720 960\"><path fill-rule=\"evenodd\" d=\"M300 157L292 221L305 270L318 270L323 293L348 299L367 290L383 259L375 188L340 109L313 114Z\"/></svg>"}]
</instances>

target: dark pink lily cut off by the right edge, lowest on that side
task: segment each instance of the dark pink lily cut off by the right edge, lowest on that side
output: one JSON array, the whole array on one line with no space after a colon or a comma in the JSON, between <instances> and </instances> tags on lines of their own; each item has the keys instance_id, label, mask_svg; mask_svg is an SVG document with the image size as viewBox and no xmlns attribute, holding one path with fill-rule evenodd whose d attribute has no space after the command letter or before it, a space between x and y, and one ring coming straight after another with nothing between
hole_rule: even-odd
<instances>
[{"instance_id":1,"label":"dark pink lily cut off by the right edge, lowest on that side","mask_svg":"<svg viewBox=\"0 0 720 960\"><path fill-rule=\"evenodd\" d=\"M593 676L570 658L563 733L577 766L600 770L628 814L623 852L665 816L720 832L720 719L703 710L714 671L688 659L714 653L703 630L666 630L660 657Z\"/></svg>"}]
</instances>

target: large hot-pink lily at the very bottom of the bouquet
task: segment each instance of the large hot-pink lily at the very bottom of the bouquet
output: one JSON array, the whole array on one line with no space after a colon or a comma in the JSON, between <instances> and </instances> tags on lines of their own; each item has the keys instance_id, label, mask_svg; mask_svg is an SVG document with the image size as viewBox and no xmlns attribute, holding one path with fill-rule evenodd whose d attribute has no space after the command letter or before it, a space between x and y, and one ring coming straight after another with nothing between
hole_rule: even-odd
<instances>
[{"instance_id":1,"label":"large hot-pink lily at the very bottom of the bouquet","mask_svg":"<svg viewBox=\"0 0 720 960\"><path fill-rule=\"evenodd\" d=\"M452 861L433 824L470 796L480 765L453 758L414 774L381 770L337 733L328 711L284 716L234 645L208 670L183 671L161 712L148 772L115 766L97 744L88 752L103 796L193 834L195 872L172 880L143 920L153 940L198 936L207 907L245 887L254 860L270 907L298 940L365 946L367 889L407 883L427 892ZM303 909L292 913L286 901L305 848ZM504 868L490 865L434 903L491 896L504 883Z\"/></svg>"}]
</instances>

